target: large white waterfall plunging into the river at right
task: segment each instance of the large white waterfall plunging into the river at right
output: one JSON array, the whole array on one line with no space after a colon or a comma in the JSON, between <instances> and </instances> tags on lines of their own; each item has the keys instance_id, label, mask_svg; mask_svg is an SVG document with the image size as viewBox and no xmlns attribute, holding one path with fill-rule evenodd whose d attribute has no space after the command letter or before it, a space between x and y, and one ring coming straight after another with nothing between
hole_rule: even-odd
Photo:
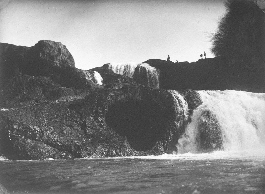
<instances>
[{"instance_id":1,"label":"large white waterfall plunging into the river at right","mask_svg":"<svg viewBox=\"0 0 265 194\"><path fill-rule=\"evenodd\" d=\"M178 153L264 153L265 93L198 91L203 103L178 140Z\"/></svg>"}]
</instances>

